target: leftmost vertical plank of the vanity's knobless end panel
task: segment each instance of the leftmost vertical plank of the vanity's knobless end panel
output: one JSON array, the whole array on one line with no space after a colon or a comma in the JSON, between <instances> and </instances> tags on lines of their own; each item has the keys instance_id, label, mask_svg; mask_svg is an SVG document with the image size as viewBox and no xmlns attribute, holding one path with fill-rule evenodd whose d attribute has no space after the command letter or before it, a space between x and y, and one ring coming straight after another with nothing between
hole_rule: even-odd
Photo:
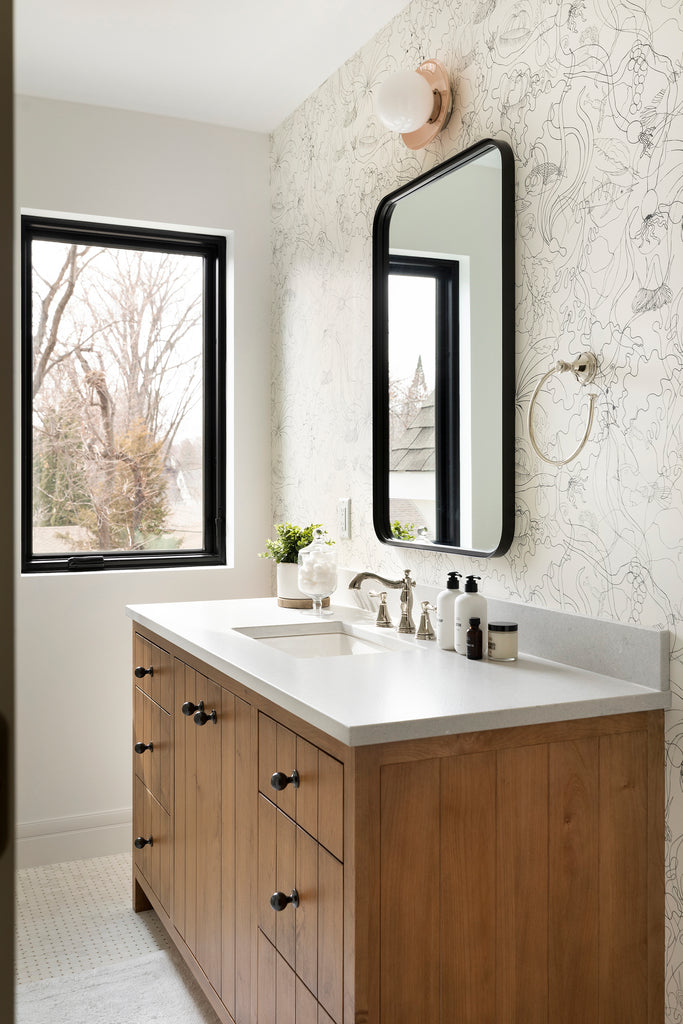
<instances>
[{"instance_id":1,"label":"leftmost vertical plank of the vanity's knobless end panel","mask_svg":"<svg viewBox=\"0 0 683 1024\"><path fill-rule=\"evenodd\" d=\"M437 760L382 768L382 1024L439 1019L438 821Z\"/></svg>"}]
</instances>

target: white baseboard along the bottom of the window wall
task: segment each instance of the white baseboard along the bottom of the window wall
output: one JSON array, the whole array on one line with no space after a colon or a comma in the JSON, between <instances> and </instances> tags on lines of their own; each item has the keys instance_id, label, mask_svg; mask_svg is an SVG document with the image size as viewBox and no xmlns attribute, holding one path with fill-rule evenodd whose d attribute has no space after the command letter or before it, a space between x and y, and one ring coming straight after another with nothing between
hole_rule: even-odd
<instances>
[{"instance_id":1,"label":"white baseboard along the bottom of the window wall","mask_svg":"<svg viewBox=\"0 0 683 1024\"><path fill-rule=\"evenodd\" d=\"M16 825L16 867L86 860L130 850L130 807Z\"/></svg>"}]
</instances>

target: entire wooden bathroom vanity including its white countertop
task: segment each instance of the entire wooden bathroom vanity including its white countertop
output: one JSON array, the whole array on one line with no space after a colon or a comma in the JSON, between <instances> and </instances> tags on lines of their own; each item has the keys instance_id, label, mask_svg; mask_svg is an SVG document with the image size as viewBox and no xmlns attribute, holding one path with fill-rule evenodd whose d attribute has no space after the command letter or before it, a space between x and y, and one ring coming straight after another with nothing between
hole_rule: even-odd
<instances>
[{"instance_id":1,"label":"entire wooden bathroom vanity including its white countertop","mask_svg":"<svg viewBox=\"0 0 683 1024\"><path fill-rule=\"evenodd\" d=\"M222 1021L660 1024L668 692L348 608L128 613L133 904Z\"/></svg>"}]
</instances>

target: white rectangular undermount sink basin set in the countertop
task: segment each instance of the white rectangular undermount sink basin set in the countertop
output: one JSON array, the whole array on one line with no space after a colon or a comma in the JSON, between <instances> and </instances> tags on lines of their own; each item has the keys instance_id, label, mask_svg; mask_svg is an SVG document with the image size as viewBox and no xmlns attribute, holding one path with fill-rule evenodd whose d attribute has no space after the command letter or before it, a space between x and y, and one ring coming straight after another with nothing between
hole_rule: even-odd
<instances>
[{"instance_id":1,"label":"white rectangular undermount sink basin set in the countertop","mask_svg":"<svg viewBox=\"0 0 683 1024\"><path fill-rule=\"evenodd\" d=\"M243 633L293 657L345 657L350 654L388 654L411 650L410 643L395 637L369 639L342 622L297 623L283 626L244 626Z\"/></svg>"}]
</instances>

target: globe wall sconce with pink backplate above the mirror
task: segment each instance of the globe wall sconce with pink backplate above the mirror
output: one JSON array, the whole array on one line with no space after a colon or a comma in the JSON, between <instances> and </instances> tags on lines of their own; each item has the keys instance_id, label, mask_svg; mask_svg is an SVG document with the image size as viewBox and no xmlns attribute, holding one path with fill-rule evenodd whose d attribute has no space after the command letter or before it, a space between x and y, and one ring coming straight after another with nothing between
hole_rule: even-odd
<instances>
[{"instance_id":1,"label":"globe wall sconce with pink backplate above the mirror","mask_svg":"<svg viewBox=\"0 0 683 1024\"><path fill-rule=\"evenodd\" d=\"M399 131L409 150L423 150L445 128L453 109L449 73L439 60L399 71L377 90L376 110L387 128Z\"/></svg>"}]
</instances>

